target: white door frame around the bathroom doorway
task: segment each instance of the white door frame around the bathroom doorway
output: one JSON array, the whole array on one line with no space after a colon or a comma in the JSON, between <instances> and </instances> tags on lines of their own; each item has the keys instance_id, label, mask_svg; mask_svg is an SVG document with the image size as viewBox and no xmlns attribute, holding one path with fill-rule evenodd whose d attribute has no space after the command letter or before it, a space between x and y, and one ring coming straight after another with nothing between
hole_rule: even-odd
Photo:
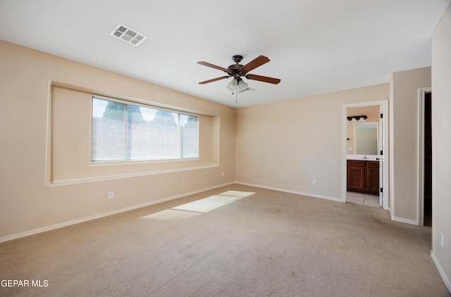
<instances>
[{"instance_id":1,"label":"white door frame around the bathroom doorway","mask_svg":"<svg viewBox=\"0 0 451 297\"><path fill-rule=\"evenodd\" d=\"M346 108L362 107L362 106L382 106L383 108L383 209L388 210L388 201L390 201L390 184L388 179L389 149L388 149L388 99L380 101L369 101L350 103L342 105L342 198L346 202L347 189L347 146L346 146Z\"/></svg>"}]
</instances>

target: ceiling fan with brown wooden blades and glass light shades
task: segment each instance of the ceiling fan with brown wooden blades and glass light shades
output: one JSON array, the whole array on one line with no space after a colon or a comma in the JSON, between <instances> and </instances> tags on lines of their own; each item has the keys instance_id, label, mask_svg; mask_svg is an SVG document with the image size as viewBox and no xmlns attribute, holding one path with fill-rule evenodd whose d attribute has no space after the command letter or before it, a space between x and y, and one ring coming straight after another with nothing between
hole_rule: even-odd
<instances>
[{"instance_id":1,"label":"ceiling fan with brown wooden blades and glass light shades","mask_svg":"<svg viewBox=\"0 0 451 297\"><path fill-rule=\"evenodd\" d=\"M240 64L242 60L241 55L233 56L232 60L235 62L235 64L228 66L228 68L223 68L221 66L213 65L211 63L207 63L204 61L197 62L197 64L215 68L227 73L226 76L216 77L212 80L205 80L204 82L199 82L199 84L208 84L209 82L216 82L217 80L224 80L226 78L233 77L232 82L230 82L227 88L232 91L233 89L237 89L238 92L241 92L251 89L247 86L245 82L243 82L242 77L246 77L248 80L258 80L260 82L268 82L270 84L278 84L280 82L278 78L253 75L248 73L249 71L254 70L257 67L265 63L268 63L269 62L268 57L258 56L257 58L254 58L254 60L250 61L246 65Z\"/></svg>"}]
</instances>

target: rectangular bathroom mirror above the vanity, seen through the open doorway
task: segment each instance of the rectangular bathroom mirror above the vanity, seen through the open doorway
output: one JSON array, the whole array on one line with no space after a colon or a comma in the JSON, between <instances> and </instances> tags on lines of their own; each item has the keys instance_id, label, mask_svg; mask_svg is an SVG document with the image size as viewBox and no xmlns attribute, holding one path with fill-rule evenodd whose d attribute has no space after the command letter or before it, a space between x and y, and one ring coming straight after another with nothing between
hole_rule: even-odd
<instances>
[{"instance_id":1,"label":"rectangular bathroom mirror above the vanity, seen through the open doorway","mask_svg":"<svg viewBox=\"0 0 451 297\"><path fill-rule=\"evenodd\" d=\"M355 153L357 155L378 155L378 123L358 122L353 126Z\"/></svg>"}]
</instances>

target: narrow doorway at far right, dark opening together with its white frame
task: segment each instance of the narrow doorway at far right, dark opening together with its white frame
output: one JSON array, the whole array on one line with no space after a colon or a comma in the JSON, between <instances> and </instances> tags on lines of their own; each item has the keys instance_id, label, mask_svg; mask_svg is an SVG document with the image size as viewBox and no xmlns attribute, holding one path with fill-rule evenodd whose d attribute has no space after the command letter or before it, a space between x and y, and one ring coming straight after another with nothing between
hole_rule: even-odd
<instances>
[{"instance_id":1,"label":"narrow doorway at far right, dark opening together with its white frame","mask_svg":"<svg viewBox=\"0 0 451 297\"><path fill-rule=\"evenodd\" d=\"M432 227L432 92L420 89L419 96L419 225Z\"/></svg>"}]
</instances>

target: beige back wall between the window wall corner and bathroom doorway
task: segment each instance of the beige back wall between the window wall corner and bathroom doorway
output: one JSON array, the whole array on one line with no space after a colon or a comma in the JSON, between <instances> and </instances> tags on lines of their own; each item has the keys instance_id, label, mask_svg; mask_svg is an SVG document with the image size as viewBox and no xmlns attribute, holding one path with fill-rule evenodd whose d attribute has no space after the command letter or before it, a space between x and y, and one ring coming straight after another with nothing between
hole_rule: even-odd
<instances>
[{"instance_id":1,"label":"beige back wall between the window wall corner and bathroom doorway","mask_svg":"<svg viewBox=\"0 0 451 297\"><path fill-rule=\"evenodd\" d=\"M378 84L237 109L237 182L341 199L342 105L388 96Z\"/></svg>"}]
</instances>

